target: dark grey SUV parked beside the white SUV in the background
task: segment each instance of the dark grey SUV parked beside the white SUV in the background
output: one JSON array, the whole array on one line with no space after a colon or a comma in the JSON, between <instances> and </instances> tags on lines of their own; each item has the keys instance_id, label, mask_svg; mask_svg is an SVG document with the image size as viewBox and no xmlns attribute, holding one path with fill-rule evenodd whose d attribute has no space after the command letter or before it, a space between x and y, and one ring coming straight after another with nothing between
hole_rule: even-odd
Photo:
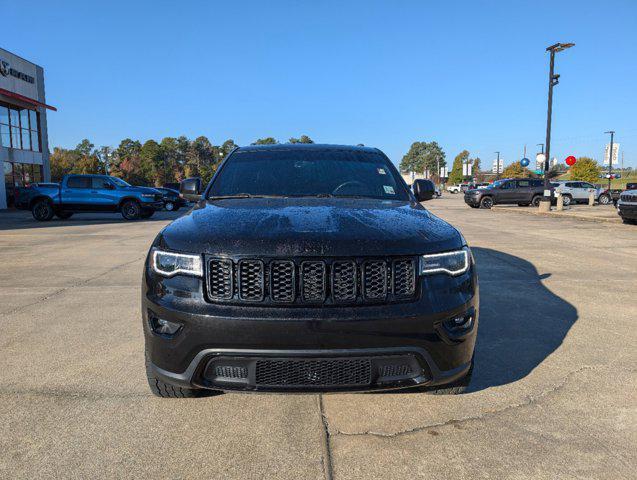
<instances>
[{"instance_id":1,"label":"dark grey SUV parked beside the white SUV in the background","mask_svg":"<svg viewBox=\"0 0 637 480\"><path fill-rule=\"evenodd\" d=\"M491 208L498 204L539 206L544 194L544 182L538 178L497 180L485 188L467 190L464 201L473 208Z\"/></svg>"}]
</instances>

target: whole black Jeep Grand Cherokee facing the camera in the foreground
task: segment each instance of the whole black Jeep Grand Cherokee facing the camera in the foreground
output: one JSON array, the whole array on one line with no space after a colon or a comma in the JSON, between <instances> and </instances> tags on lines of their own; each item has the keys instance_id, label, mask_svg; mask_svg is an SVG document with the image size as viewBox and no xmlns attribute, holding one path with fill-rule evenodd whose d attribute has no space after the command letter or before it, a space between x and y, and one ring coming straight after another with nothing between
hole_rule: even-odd
<instances>
[{"instance_id":1,"label":"whole black Jeep Grand Cherokee facing the camera in the foreground","mask_svg":"<svg viewBox=\"0 0 637 480\"><path fill-rule=\"evenodd\" d=\"M420 205L432 194L374 148L235 149L148 254L151 390L462 391L477 276L462 235Z\"/></svg>"}]
</instances>

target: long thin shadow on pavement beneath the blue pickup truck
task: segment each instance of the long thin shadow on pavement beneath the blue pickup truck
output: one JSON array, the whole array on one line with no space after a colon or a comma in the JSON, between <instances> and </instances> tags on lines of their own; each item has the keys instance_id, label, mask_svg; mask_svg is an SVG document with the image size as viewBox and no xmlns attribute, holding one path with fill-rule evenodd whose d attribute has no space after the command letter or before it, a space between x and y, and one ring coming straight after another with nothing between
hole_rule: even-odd
<instances>
[{"instance_id":1,"label":"long thin shadow on pavement beneath the blue pickup truck","mask_svg":"<svg viewBox=\"0 0 637 480\"><path fill-rule=\"evenodd\" d=\"M61 220L53 217L48 222L38 222L33 218L30 211L8 210L0 211L0 231L20 230L26 228L50 228L50 227L72 227L82 225L105 225L105 224L135 224L140 222L172 221L187 213L190 208L181 208L176 212L159 211L148 219L124 220L120 213L74 213L68 220Z\"/></svg>"}]
</instances>

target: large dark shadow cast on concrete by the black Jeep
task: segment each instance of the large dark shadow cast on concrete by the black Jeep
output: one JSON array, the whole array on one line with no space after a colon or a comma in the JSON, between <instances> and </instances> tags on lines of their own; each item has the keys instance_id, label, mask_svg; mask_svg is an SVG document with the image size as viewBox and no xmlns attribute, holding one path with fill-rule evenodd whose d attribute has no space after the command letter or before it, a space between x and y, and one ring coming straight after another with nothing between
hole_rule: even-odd
<instances>
[{"instance_id":1,"label":"large dark shadow cast on concrete by the black Jeep","mask_svg":"<svg viewBox=\"0 0 637 480\"><path fill-rule=\"evenodd\" d=\"M546 288L530 262L472 248L480 283L480 324L469 391L527 376L562 344L577 309Z\"/></svg>"}]
</instances>

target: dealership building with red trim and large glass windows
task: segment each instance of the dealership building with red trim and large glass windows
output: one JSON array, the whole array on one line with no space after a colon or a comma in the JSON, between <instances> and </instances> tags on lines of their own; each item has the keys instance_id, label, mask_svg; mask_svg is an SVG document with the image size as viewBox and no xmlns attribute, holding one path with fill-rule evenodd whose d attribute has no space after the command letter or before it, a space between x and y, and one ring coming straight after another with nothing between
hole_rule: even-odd
<instances>
[{"instance_id":1,"label":"dealership building with red trim and large glass windows","mask_svg":"<svg viewBox=\"0 0 637 480\"><path fill-rule=\"evenodd\" d=\"M50 181L44 70L0 48L0 209L20 187Z\"/></svg>"}]
</instances>

